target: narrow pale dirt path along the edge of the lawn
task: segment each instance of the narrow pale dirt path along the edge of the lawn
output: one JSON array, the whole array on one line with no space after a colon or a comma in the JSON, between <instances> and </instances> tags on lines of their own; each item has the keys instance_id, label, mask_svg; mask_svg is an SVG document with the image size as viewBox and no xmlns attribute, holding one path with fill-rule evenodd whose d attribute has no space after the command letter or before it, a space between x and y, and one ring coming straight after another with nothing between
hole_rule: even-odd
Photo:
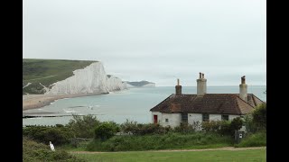
<instances>
[{"instance_id":1,"label":"narrow pale dirt path along the edge of the lawn","mask_svg":"<svg viewBox=\"0 0 289 162\"><path fill-rule=\"evenodd\" d=\"M234 147L225 147L225 148L204 148L204 149L161 149L161 150L145 150L145 151L117 151L117 152L98 152L98 151L70 151L74 154L101 154L101 153L126 153L126 152L182 152L182 151L208 151L208 150L247 150L247 149L262 149L266 147L252 147L252 148L234 148Z\"/></svg>"}]
</instances>

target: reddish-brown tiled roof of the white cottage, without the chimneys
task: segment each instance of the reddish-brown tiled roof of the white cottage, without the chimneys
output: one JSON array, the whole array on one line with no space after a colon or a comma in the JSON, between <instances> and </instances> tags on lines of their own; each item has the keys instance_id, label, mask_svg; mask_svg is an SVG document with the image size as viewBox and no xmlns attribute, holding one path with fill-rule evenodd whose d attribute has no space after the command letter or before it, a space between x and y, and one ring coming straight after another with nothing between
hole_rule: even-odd
<instances>
[{"instance_id":1,"label":"reddish-brown tiled roof of the white cottage, without the chimneys","mask_svg":"<svg viewBox=\"0 0 289 162\"><path fill-rule=\"evenodd\" d=\"M264 103L254 94L248 94L248 103L238 97L238 94L171 94L162 103L157 104L152 112L191 112L216 114L247 114L254 107Z\"/></svg>"}]
</instances>

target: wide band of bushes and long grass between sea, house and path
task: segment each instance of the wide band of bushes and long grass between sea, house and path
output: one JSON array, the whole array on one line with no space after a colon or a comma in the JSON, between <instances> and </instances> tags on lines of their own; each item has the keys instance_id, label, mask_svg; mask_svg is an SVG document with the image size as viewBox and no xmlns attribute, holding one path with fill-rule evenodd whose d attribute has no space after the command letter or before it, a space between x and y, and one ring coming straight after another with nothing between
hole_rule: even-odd
<instances>
[{"instance_id":1,"label":"wide band of bushes and long grass between sea, house and path","mask_svg":"<svg viewBox=\"0 0 289 162\"><path fill-rule=\"evenodd\" d=\"M98 121L92 115L73 115L67 125L24 127L23 136L43 143L52 141L57 147L67 150L89 151L266 146L266 129L260 129L262 124L257 125L253 119L252 115L245 117L245 125L250 123L258 128L257 131L248 132L248 136L238 144L235 144L233 132L241 128L243 121L240 118L203 122L203 130L196 131L200 123L182 123L172 129L159 124L128 120L117 124Z\"/></svg>"}]
</instances>

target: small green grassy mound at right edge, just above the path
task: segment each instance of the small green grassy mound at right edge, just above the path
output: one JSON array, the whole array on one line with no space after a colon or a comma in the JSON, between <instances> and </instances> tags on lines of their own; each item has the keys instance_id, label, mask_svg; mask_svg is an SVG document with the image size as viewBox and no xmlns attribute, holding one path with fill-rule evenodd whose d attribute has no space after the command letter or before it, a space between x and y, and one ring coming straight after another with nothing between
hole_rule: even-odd
<instances>
[{"instance_id":1,"label":"small green grassy mound at right edge, just above the path","mask_svg":"<svg viewBox=\"0 0 289 162\"><path fill-rule=\"evenodd\" d=\"M245 139L242 139L236 147L246 148L246 147L262 147L266 146L266 132L258 132L256 134L251 134Z\"/></svg>"}]
</instances>

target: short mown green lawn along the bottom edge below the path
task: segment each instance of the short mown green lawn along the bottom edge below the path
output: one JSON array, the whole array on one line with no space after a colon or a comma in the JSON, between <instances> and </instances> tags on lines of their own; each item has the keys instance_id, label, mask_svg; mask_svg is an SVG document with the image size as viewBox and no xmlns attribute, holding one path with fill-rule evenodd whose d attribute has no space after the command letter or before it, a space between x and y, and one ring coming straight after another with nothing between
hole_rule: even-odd
<instances>
[{"instance_id":1,"label":"short mown green lawn along the bottom edge below the path","mask_svg":"<svg viewBox=\"0 0 289 162\"><path fill-rule=\"evenodd\" d=\"M88 161L266 161L266 149L207 150L191 152L130 151L99 154L74 154Z\"/></svg>"}]
</instances>

